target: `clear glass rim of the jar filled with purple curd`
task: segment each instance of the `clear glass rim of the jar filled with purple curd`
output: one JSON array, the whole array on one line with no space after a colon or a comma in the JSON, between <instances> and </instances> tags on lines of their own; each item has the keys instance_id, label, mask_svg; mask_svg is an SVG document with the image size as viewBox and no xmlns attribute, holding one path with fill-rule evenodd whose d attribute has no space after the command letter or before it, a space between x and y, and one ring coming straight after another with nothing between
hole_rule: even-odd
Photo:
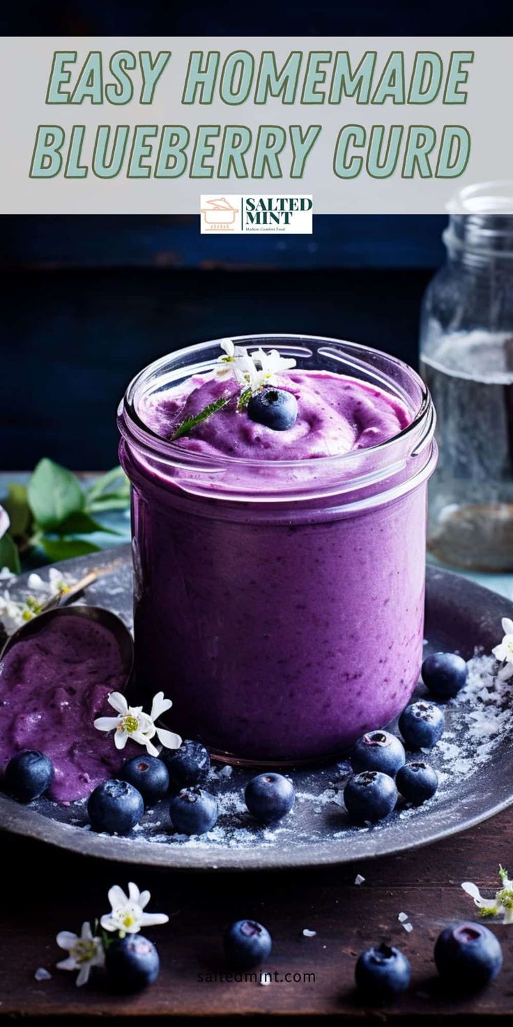
<instances>
[{"instance_id":1,"label":"clear glass rim of the jar filled with purple curd","mask_svg":"<svg viewBox=\"0 0 513 1027\"><path fill-rule=\"evenodd\" d=\"M197 469L207 466L240 466L244 464L249 468L269 468L269 460L262 459L247 459L246 457L241 458L238 456L230 456L229 454L204 454L196 453L191 450L183 449L179 443L171 442L166 439L162 439L161 435L157 434L152 428L150 428L140 416L136 409L136 398L137 389L151 378L155 378L160 371L163 371L169 364L169 360L184 359L187 357L201 356L205 353L211 346L220 346L222 341L226 341L227 337L220 339L212 339L207 342L194 343L190 346L182 347L174 350L172 353L167 353L164 356L149 364L146 368L143 368L129 382L127 389L118 409L118 425L122 435L128 441L133 442L137 447L145 450L147 453L155 454L159 457L167 457L169 462L176 463L179 466L194 465ZM368 446L364 450L358 450L358 455L368 456L369 454L385 453L386 451L391 451L397 448L399 443L404 442L411 438L413 451L421 452L424 446L430 441L434 431L434 411L429 393L429 389L422 380L421 376L404 360L399 359L396 356L392 356L389 353L385 353L382 350L376 349L372 346L366 346L361 343L350 342L345 339L333 339L325 336L311 336L311 335L300 335L293 333L263 333L258 335L243 335L243 336L230 336L235 345L245 345L245 346L273 346L278 348L280 352L286 355L292 355L292 351L300 351L301 348L308 347L310 344L314 344L320 350L321 346L344 346L353 356L353 364L355 366L367 367L367 370L373 370L372 377L379 379L381 382L385 382L386 376L383 373L379 373L376 369L372 369L372 365L365 365L362 357L367 355L374 360L386 360L391 368L396 369L398 372L406 375L411 381L417 385L420 391L420 403L417 410L412 411L411 421L396 434L392 435L390 439L384 442L378 443L374 446ZM358 354L361 354L360 356ZM299 355L305 355L299 352ZM184 370L186 370L184 368ZM199 373L199 368L197 365L187 368L187 374L184 374L183 378L191 377L192 374ZM203 369L206 370L206 369ZM392 378L389 379L390 382L393 381ZM402 398L408 405L408 409L411 410L411 401L405 395L403 389L396 386L395 394ZM431 415L431 416L430 416ZM424 429L424 430L423 430ZM419 438L418 438L419 436ZM305 469L307 467L312 468L313 465L316 467L337 467L340 466L341 469L347 466L348 463L355 458L356 451L349 451L348 453L336 454L330 456L319 456L319 457L303 457L300 459L283 459L272 461L273 468L286 468L289 472L295 469Z\"/></svg>"}]
</instances>

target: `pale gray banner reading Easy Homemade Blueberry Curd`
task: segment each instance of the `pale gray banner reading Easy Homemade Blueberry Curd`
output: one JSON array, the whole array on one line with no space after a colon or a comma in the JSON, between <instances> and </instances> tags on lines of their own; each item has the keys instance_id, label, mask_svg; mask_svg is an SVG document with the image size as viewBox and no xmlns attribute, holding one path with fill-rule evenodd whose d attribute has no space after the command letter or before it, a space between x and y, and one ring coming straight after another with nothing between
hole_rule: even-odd
<instances>
[{"instance_id":1,"label":"pale gray banner reading Easy Homemade Blueberry Curd","mask_svg":"<svg viewBox=\"0 0 513 1027\"><path fill-rule=\"evenodd\" d=\"M0 54L2 214L311 231L312 214L439 214L513 174L511 38L3 38Z\"/></svg>"}]
</instances>

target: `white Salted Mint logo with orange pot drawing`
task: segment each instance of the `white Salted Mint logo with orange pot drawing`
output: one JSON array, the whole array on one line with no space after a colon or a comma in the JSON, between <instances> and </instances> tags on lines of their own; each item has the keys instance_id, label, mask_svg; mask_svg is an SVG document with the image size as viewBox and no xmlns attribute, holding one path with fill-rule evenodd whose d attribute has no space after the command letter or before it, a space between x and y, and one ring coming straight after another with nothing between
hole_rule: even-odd
<instances>
[{"instance_id":1,"label":"white Salted Mint logo with orange pot drawing","mask_svg":"<svg viewBox=\"0 0 513 1027\"><path fill-rule=\"evenodd\" d=\"M312 196L201 196L201 234L311 235Z\"/></svg>"}]
</instances>

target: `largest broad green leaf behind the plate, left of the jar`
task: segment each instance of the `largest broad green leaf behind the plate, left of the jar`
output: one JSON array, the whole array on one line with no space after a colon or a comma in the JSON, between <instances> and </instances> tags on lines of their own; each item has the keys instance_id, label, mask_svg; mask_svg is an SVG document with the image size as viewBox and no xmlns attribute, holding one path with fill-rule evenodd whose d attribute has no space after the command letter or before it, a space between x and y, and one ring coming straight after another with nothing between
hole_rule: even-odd
<instances>
[{"instance_id":1,"label":"largest broad green leaf behind the plate, left of the jar","mask_svg":"<svg viewBox=\"0 0 513 1027\"><path fill-rule=\"evenodd\" d=\"M84 494L71 470L46 457L29 482L29 503L37 523L47 531L84 507Z\"/></svg>"}]
</instances>

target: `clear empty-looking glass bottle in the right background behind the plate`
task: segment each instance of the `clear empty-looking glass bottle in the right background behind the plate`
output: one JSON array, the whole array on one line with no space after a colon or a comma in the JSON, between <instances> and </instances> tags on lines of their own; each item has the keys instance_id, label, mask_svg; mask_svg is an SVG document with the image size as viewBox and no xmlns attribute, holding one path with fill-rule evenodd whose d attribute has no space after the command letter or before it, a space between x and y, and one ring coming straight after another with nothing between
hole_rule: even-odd
<instances>
[{"instance_id":1,"label":"clear empty-looking glass bottle in the right background behind the plate","mask_svg":"<svg viewBox=\"0 0 513 1027\"><path fill-rule=\"evenodd\" d=\"M513 570L513 183L450 204L447 261L426 292L421 373L437 413L428 545L463 568Z\"/></svg>"}]
</instances>

